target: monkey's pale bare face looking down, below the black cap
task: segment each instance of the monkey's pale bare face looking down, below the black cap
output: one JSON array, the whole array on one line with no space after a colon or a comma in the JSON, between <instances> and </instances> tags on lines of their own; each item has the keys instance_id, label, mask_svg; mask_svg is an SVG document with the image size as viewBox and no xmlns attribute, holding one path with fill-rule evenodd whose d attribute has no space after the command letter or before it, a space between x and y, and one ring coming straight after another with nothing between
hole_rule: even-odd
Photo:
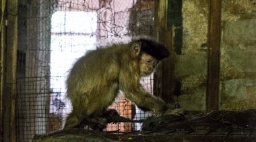
<instances>
[{"instance_id":1,"label":"monkey's pale bare face looking down, below the black cap","mask_svg":"<svg viewBox=\"0 0 256 142\"><path fill-rule=\"evenodd\" d=\"M139 63L141 76L148 76L152 74L152 72L154 72L154 69L156 68L156 66L158 66L159 61L156 60L156 58L150 56L149 54L142 52Z\"/></svg>"}]
</instances>

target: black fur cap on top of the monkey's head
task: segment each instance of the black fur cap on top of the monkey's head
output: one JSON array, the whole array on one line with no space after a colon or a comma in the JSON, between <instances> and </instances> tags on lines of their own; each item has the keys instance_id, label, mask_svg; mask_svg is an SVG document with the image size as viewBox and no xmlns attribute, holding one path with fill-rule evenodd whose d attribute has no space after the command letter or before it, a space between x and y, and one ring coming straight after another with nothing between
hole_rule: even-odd
<instances>
[{"instance_id":1,"label":"black fur cap on top of the monkey's head","mask_svg":"<svg viewBox=\"0 0 256 142\"><path fill-rule=\"evenodd\" d=\"M157 60L163 60L170 56L170 51L163 45L148 38L140 38L137 42L141 43L141 51L153 56Z\"/></svg>"}]
</instances>

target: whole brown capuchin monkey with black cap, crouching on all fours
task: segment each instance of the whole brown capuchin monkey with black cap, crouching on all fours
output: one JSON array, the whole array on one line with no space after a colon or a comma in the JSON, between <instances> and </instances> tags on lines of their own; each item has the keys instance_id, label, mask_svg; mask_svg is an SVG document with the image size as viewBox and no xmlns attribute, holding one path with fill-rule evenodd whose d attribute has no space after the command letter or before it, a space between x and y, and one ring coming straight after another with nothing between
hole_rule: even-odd
<instances>
[{"instance_id":1,"label":"whole brown capuchin monkey with black cap, crouching on all fours","mask_svg":"<svg viewBox=\"0 0 256 142\"><path fill-rule=\"evenodd\" d=\"M183 109L174 109L139 83L141 76L152 74L159 62L169 56L164 45L149 38L136 38L126 44L87 52L75 62L67 76L67 98L73 109L64 129L85 123L91 129L102 131L111 117L118 115L117 111L107 108L119 90L143 111L152 111L157 116L183 114Z\"/></svg>"}]
</instances>

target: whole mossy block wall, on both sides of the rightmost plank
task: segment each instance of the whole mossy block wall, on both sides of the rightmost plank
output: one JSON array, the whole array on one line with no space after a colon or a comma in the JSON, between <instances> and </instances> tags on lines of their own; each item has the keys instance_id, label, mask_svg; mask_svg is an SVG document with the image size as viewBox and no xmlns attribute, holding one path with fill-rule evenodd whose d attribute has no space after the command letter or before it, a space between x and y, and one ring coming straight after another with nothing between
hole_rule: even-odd
<instances>
[{"instance_id":1,"label":"whole mossy block wall, on both sides of the rightmost plank","mask_svg":"<svg viewBox=\"0 0 256 142\"><path fill-rule=\"evenodd\" d=\"M183 0L183 47L175 75L187 111L205 111L208 0ZM222 1L220 110L256 109L256 1Z\"/></svg>"}]
</instances>

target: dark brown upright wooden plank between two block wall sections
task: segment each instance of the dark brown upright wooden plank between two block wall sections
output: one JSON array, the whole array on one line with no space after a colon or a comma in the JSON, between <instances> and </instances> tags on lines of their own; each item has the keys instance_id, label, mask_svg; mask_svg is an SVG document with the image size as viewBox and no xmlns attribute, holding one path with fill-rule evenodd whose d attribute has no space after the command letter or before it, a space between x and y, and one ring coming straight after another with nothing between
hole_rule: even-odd
<instances>
[{"instance_id":1,"label":"dark brown upright wooden plank between two block wall sections","mask_svg":"<svg viewBox=\"0 0 256 142\"><path fill-rule=\"evenodd\" d=\"M220 84L220 22L221 1L209 0L208 66L206 110L218 110Z\"/></svg>"}]
</instances>

